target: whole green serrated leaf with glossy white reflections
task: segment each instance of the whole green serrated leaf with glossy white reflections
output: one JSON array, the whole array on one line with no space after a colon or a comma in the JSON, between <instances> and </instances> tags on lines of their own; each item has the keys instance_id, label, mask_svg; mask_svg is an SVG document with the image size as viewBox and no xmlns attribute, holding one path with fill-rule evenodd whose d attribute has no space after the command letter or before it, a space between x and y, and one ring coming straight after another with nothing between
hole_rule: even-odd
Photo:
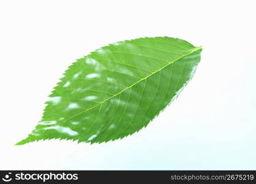
<instances>
[{"instance_id":1,"label":"whole green serrated leaf with glossy white reflections","mask_svg":"<svg viewBox=\"0 0 256 184\"><path fill-rule=\"evenodd\" d=\"M46 102L42 120L18 142L68 139L107 142L148 125L192 78L202 47L145 37L77 59Z\"/></svg>"}]
</instances>

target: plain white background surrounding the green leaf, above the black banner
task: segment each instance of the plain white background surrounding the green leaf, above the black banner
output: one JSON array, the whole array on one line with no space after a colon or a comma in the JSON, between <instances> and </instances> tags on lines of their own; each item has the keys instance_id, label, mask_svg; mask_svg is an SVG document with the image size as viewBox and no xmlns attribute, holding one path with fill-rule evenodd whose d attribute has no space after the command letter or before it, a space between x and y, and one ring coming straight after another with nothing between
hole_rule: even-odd
<instances>
[{"instance_id":1,"label":"plain white background surrounding the green leaf, above the black banner","mask_svg":"<svg viewBox=\"0 0 256 184\"><path fill-rule=\"evenodd\" d=\"M256 169L255 1L0 1L0 169ZM75 59L138 37L203 45L147 128L107 144L23 146Z\"/></svg>"}]
</instances>

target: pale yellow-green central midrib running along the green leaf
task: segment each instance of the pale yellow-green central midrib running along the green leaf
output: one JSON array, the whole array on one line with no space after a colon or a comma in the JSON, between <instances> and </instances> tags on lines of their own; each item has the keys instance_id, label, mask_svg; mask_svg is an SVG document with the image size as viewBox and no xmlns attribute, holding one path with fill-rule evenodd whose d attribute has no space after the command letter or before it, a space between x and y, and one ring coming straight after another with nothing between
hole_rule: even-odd
<instances>
[{"instance_id":1,"label":"pale yellow-green central midrib running along the green leaf","mask_svg":"<svg viewBox=\"0 0 256 184\"><path fill-rule=\"evenodd\" d=\"M162 69L164 69L165 67L169 66L170 64L173 64L173 63L176 62L177 60L179 60L179 59L181 59L181 58L183 58L183 57L185 57L185 56L187 56L187 55L190 55L190 54L192 54L192 53L194 53L194 52L196 52L196 51L198 51L198 50L201 50L201 49L202 49L201 46L200 46L200 47L196 47L195 49L193 49L192 51L188 52L187 54L182 55L182 56L180 56L180 57L177 58L177 59L174 59L174 61L171 61L170 63L168 63L168 64L166 64L165 66L161 67L161 68L158 69L157 71L152 72L151 74L147 75L147 77L144 77L144 78L142 78L141 80L138 80L138 82L134 83L133 85L130 85L130 86L126 87L125 89L123 89L122 91L118 92L117 94L114 94L113 96L111 96L111 97L109 97L109 98L107 98L107 99L104 99L104 101L99 102L98 104L94 105L93 107L91 107L91 108L89 108L89 109L86 109L86 110L83 110L83 111L77 113L76 115L74 115L74 116L71 117L71 118L68 118L67 120L63 121L63 122L60 123L59 125L61 125L61 124L63 124L63 123L66 123L66 121L71 120L71 119L74 118L74 117L77 117L77 115L79 115L79 114L81 114L81 113L87 112L88 110L91 110L91 109L97 107L98 105L103 104L104 102L108 101L109 99L111 99L111 98L113 98L113 97L115 97L115 96L118 96L119 94L123 93L123 91L128 90L129 88L132 88L134 85L138 84L139 82L142 82L142 80L145 80L145 79L149 78L151 75L153 75L153 74L155 74L155 73L161 71Z\"/></svg>"}]
</instances>

